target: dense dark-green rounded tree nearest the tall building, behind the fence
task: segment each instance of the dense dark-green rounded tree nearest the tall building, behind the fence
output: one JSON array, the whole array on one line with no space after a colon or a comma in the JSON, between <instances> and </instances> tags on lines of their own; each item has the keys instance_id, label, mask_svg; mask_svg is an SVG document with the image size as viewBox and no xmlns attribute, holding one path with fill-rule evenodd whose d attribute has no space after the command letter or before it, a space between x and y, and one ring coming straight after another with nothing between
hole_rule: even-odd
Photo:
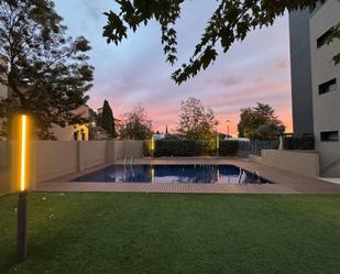
<instances>
[{"instance_id":1,"label":"dense dark-green rounded tree nearest the tall building, behind the fence","mask_svg":"<svg viewBox=\"0 0 340 274\"><path fill-rule=\"evenodd\" d=\"M257 102L254 108L241 109L239 136L251 140L274 140L285 131L270 105Z\"/></svg>"}]
</instances>

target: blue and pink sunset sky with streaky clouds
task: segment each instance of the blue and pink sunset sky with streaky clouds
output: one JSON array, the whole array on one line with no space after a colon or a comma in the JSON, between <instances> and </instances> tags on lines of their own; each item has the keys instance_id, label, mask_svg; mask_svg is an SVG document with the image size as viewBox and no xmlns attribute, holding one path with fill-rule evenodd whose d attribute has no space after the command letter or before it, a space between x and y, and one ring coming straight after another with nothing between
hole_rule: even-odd
<instances>
[{"instance_id":1,"label":"blue and pink sunset sky with streaky clouds","mask_svg":"<svg viewBox=\"0 0 340 274\"><path fill-rule=\"evenodd\" d=\"M176 25L179 61L174 67L165 63L157 24L131 33L119 46L108 45L101 35L106 23L102 12L114 10L112 0L55 2L68 33L84 35L91 43L90 64L96 68L89 92L91 108L98 109L107 99L114 117L120 118L141 103L154 130L165 131L167 124L174 131L180 101L196 97L215 111L219 131L226 132L226 120L230 120L230 132L237 134L240 109L261 101L273 106L287 131L292 131L287 15L271 28L254 31L229 53L221 53L213 66L178 87L171 74L191 56L216 1L186 1L183 6Z\"/></svg>"}]
</instances>

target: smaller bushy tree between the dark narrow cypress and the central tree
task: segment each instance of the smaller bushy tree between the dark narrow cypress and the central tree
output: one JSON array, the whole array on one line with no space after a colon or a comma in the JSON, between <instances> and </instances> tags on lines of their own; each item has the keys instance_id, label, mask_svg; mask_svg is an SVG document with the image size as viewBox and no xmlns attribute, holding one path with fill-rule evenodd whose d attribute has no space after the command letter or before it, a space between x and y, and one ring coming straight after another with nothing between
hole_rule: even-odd
<instances>
[{"instance_id":1,"label":"smaller bushy tree between the dark narrow cypress and the central tree","mask_svg":"<svg viewBox=\"0 0 340 274\"><path fill-rule=\"evenodd\" d=\"M152 138L152 123L143 106L134 107L131 112L123 114L122 120L124 125L120 132L121 139L150 140Z\"/></svg>"}]
</instances>

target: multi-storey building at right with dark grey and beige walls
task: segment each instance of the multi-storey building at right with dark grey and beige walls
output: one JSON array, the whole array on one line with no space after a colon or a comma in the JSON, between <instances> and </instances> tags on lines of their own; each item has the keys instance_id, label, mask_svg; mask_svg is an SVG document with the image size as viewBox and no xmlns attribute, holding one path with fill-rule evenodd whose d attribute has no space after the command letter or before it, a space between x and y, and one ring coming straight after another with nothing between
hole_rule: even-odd
<instances>
[{"instance_id":1,"label":"multi-storey building at right with dark grey and beige walls","mask_svg":"<svg viewBox=\"0 0 340 274\"><path fill-rule=\"evenodd\" d=\"M298 24L308 17L308 34L295 35L306 31L307 26ZM320 172L323 177L340 177L340 65L332 57L340 53L340 40L328 43L332 28L340 23L340 1L328 0L314 11L290 14L290 52L292 52L292 92L293 109L307 109L307 127L301 112L293 111L294 130L307 133L312 121L316 150L320 155ZM297 29L301 29L296 31ZM307 36L309 45L306 46ZM297 41L300 40L303 45ZM301 48L305 48L298 54ZM308 55L309 52L309 65ZM301 63L297 64L297 59ZM308 68L309 67L309 68ZM301 69L306 72L301 73ZM307 75L307 76L306 76ZM309 76L310 75L310 79ZM301 81L304 81L301 84ZM301 86L305 88L301 88ZM307 86L310 85L310 89ZM311 100L310 100L311 97Z\"/></svg>"}]
</instances>

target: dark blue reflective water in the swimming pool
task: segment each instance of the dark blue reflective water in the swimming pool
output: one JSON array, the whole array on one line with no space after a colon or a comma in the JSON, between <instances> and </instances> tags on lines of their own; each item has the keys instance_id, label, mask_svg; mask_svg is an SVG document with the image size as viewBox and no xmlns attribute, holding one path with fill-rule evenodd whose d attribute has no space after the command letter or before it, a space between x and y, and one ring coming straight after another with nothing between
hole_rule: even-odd
<instances>
[{"instance_id":1,"label":"dark blue reflective water in the swimming pool","mask_svg":"<svg viewBox=\"0 0 340 274\"><path fill-rule=\"evenodd\" d=\"M273 184L233 165L112 165L73 182Z\"/></svg>"}]
</instances>

